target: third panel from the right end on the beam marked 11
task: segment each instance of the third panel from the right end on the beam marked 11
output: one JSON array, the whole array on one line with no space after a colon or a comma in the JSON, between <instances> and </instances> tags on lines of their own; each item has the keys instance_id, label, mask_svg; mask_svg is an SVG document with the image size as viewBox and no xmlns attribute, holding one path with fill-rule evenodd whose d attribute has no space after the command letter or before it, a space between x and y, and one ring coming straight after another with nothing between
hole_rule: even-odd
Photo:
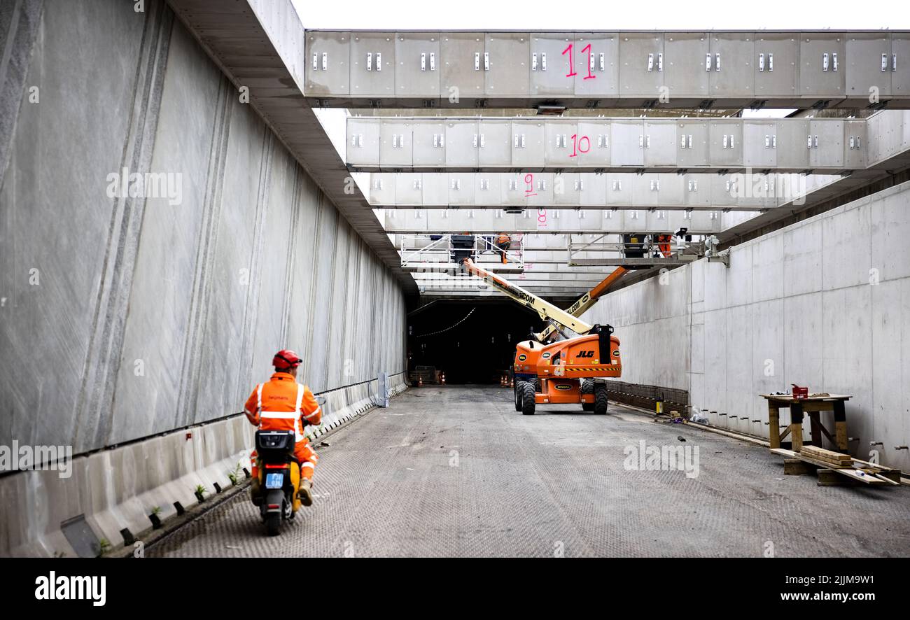
<instances>
[{"instance_id":1,"label":"third panel from the right end on the beam marked 11","mask_svg":"<svg viewBox=\"0 0 910 620\"><path fill-rule=\"evenodd\" d=\"M755 34L755 99L793 97L797 100L799 80L799 35Z\"/></svg>"}]
</instances>

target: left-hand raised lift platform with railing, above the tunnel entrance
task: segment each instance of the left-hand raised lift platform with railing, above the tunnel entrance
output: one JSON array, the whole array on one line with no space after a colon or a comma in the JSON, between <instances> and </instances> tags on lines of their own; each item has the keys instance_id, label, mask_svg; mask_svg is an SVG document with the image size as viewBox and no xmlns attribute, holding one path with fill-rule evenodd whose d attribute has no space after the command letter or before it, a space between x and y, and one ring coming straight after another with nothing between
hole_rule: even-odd
<instances>
[{"instance_id":1,"label":"left-hand raised lift platform with railing, above the tunnel entrance","mask_svg":"<svg viewBox=\"0 0 910 620\"><path fill-rule=\"evenodd\" d=\"M410 273L460 271L463 258L497 271L524 272L524 235L402 235L401 268Z\"/></svg>"}]
</instances>

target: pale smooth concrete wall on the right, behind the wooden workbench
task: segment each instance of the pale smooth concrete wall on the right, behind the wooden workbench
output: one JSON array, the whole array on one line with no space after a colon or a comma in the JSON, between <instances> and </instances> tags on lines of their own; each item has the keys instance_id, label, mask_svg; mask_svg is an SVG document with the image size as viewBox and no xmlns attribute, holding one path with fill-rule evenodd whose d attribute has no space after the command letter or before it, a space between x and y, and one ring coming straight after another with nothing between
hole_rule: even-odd
<instances>
[{"instance_id":1,"label":"pale smooth concrete wall on the right, behind the wooden workbench","mask_svg":"<svg viewBox=\"0 0 910 620\"><path fill-rule=\"evenodd\" d=\"M852 395L851 452L884 442L882 464L910 471L895 449L910 445L908 209L897 185L736 245L729 269L702 259L620 289L588 317L616 327L623 381L688 390L723 428L767 437L759 394L792 383Z\"/></svg>"}]
</instances>

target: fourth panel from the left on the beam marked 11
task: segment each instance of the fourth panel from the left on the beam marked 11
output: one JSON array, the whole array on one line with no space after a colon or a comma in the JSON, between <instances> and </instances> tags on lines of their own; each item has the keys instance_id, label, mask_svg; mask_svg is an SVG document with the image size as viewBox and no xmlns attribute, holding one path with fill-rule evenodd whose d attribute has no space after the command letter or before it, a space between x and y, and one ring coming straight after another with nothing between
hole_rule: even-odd
<instances>
[{"instance_id":1,"label":"fourth panel from the left on the beam marked 11","mask_svg":"<svg viewBox=\"0 0 910 620\"><path fill-rule=\"evenodd\" d=\"M480 33L440 34L440 96L447 100L447 105L460 105L462 98L483 97L486 79L483 71L484 45L484 37ZM467 102L465 105L470 107Z\"/></svg>"}]
</instances>

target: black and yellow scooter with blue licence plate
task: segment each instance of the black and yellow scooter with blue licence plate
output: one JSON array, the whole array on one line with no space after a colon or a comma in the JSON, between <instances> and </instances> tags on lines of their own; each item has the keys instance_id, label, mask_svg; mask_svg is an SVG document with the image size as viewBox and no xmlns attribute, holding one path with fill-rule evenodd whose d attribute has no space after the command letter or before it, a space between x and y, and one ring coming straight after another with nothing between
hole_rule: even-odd
<instances>
[{"instance_id":1,"label":"black and yellow scooter with blue licence plate","mask_svg":"<svg viewBox=\"0 0 910 620\"><path fill-rule=\"evenodd\" d=\"M281 522L293 519L300 509L300 465L294 458L294 443L294 431L256 432L260 491L252 500L270 536L277 536Z\"/></svg>"}]
</instances>

